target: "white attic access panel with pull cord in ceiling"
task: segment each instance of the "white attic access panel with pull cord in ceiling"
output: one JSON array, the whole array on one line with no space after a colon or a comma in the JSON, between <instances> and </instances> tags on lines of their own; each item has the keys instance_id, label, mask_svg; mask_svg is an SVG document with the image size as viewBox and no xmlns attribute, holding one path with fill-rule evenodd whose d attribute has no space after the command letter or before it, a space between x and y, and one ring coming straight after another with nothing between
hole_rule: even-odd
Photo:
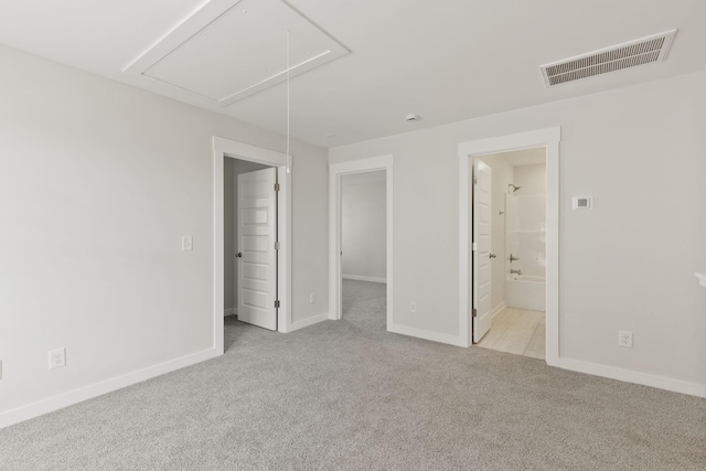
<instances>
[{"instance_id":1,"label":"white attic access panel with pull cord in ceiling","mask_svg":"<svg viewBox=\"0 0 706 471\"><path fill-rule=\"evenodd\" d=\"M226 106L287 78L288 32L291 77L350 52L284 1L211 1L124 72Z\"/></svg>"}]
</instances>

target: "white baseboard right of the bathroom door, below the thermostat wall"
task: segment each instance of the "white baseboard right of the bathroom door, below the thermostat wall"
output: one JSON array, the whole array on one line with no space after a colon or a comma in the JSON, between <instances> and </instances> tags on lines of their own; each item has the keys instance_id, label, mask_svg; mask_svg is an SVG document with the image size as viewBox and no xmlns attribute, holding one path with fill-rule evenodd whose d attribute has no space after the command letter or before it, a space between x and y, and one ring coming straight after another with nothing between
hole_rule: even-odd
<instances>
[{"instance_id":1,"label":"white baseboard right of the bathroom door, below the thermostat wall","mask_svg":"<svg viewBox=\"0 0 706 471\"><path fill-rule=\"evenodd\" d=\"M706 397L706 384L689 383L649 373L633 372L631 370L617 368L614 366L599 365L597 363L582 362L580 360L559 357L558 367L573 372L586 373L593 376L602 376L611 379L635 383L674 393L688 394L689 396Z\"/></svg>"}]
</instances>

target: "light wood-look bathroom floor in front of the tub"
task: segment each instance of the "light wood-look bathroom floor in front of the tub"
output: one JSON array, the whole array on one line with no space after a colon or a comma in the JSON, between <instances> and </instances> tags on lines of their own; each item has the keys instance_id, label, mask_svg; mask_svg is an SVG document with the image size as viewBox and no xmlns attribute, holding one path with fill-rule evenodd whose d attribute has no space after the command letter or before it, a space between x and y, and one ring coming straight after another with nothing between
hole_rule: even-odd
<instances>
[{"instance_id":1,"label":"light wood-look bathroom floor in front of the tub","mask_svg":"<svg viewBox=\"0 0 706 471\"><path fill-rule=\"evenodd\" d=\"M505 308L493 318L478 346L544 360L545 332L544 312Z\"/></svg>"}]
</instances>

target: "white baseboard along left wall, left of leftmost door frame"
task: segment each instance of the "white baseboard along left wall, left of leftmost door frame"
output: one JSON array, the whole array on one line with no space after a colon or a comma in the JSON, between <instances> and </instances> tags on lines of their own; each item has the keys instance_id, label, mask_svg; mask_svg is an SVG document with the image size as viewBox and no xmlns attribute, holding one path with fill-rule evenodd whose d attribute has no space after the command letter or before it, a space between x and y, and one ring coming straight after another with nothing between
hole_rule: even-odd
<instances>
[{"instance_id":1,"label":"white baseboard along left wall, left of leftmost door frame","mask_svg":"<svg viewBox=\"0 0 706 471\"><path fill-rule=\"evenodd\" d=\"M4 413L0 413L0 428L9 427L11 425L52 413L54 410L63 409L64 407L72 406L74 404L92 399L94 397L103 396L104 394L113 393L114 390L120 389L122 387L131 386L133 384L141 383L143 381L151 379L165 373L171 373L175 370L181 370L186 366L214 358L216 356L218 356L218 354L216 353L216 349L212 347L203 350L201 352L170 360L158 365L148 366L136 372L127 373L125 375L117 376L110 379L105 379L89 386L69 390L68 393L38 400L25 406L6 410Z\"/></svg>"}]
</instances>

